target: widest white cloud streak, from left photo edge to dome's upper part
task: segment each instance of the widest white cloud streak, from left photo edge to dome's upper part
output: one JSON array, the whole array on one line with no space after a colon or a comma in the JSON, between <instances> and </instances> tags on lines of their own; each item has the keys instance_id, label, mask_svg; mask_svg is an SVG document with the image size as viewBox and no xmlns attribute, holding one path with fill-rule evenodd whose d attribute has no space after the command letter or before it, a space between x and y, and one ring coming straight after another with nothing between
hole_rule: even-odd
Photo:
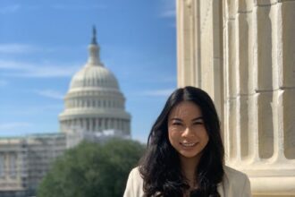
<instances>
[{"instance_id":1,"label":"widest white cloud streak, from left photo edge to dome's upper part","mask_svg":"<svg viewBox=\"0 0 295 197\"><path fill-rule=\"evenodd\" d=\"M0 59L0 72L4 76L55 78L72 77L78 71L78 64L36 64Z\"/></svg>"}]
</instances>

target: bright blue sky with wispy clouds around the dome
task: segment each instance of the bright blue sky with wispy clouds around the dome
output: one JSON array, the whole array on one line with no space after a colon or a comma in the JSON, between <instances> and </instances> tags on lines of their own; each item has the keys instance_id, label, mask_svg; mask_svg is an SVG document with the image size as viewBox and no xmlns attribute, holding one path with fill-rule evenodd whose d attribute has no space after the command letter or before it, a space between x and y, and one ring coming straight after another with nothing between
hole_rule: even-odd
<instances>
[{"instance_id":1,"label":"bright blue sky with wispy clouds around the dome","mask_svg":"<svg viewBox=\"0 0 295 197\"><path fill-rule=\"evenodd\" d=\"M132 137L147 141L176 88L174 0L1 0L0 137L59 132L93 25L101 60L127 99Z\"/></svg>"}]
</instances>

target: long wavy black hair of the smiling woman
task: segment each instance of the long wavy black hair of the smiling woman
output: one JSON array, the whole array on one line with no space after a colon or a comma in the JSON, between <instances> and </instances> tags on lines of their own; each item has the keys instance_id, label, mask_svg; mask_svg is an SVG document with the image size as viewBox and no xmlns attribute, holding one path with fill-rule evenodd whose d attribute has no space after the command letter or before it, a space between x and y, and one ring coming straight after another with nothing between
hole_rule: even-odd
<instances>
[{"instance_id":1,"label":"long wavy black hair of the smiling woman","mask_svg":"<svg viewBox=\"0 0 295 197\"><path fill-rule=\"evenodd\" d=\"M144 193L148 197L183 196L190 188L181 173L178 152L168 139L168 116L172 108L181 101L191 101L200 107L209 137L196 168L198 190L193 193L200 193L200 196L219 196L217 184L223 179L224 156L220 122L209 95L204 90L190 86L173 91L148 135L147 151L139 161Z\"/></svg>"}]
</instances>

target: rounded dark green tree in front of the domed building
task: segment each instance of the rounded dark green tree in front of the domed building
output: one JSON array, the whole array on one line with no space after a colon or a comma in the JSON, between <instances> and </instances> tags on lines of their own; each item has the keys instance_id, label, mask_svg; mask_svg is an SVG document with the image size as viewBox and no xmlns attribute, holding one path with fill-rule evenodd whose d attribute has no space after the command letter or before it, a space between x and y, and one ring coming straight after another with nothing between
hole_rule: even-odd
<instances>
[{"instance_id":1,"label":"rounded dark green tree in front of the domed building","mask_svg":"<svg viewBox=\"0 0 295 197\"><path fill-rule=\"evenodd\" d=\"M122 197L145 146L113 139L82 142L57 158L38 187L38 197Z\"/></svg>"}]
</instances>

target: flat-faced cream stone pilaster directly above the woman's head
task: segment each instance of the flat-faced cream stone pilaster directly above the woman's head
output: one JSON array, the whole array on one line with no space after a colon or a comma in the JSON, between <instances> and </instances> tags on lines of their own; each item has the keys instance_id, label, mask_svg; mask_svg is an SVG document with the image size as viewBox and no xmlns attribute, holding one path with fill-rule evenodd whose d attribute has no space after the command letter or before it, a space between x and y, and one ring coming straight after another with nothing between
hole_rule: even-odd
<instances>
[{"instance_id":1,"label":"flat-faced cream stone pilaster directly above the woman's head","mask_svg":"<svg viewBox=\"0 0 295 197\"><path fill-rule=\"evenodd\" d=\"M223 117L223 26L219 17L222 2L178 0L176 3L177 84L206 89Z\"/></svg>"}]
</instances>

